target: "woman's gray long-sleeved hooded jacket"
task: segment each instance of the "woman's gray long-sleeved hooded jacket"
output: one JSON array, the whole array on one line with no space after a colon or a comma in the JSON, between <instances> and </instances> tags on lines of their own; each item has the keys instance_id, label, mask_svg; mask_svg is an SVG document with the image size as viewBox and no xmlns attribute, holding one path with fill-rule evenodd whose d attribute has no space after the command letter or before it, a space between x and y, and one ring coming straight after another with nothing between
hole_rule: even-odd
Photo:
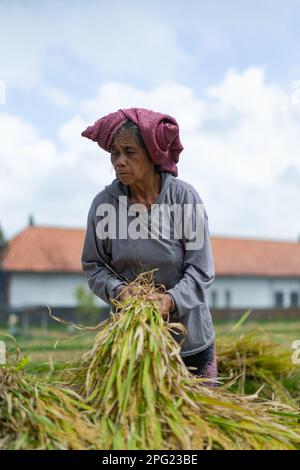
<instances>
[{"instance_id":1,"label":"woman's gray long-sleeved hooded jacket","mask_svg":"<svg viewBox=\"0 0 300 470\"><path fill-rule=\"evenodd\" d=\"M101 216L96 215L97 207L110 204L118 213L120 196L129 196L128 187L115 179L95 196L89 210L81 262L91 291L111 304L110 300L115 297L118 288L126 284L105 263L126 280L133 280L141 272L159 268L155 274L155 283L164 284L175 301L171 320L179 321L187 328L181 355L189 356L206 349L215 338L205 295L205 289L215 279L206 211L204 210L204 242L197 250L185 249L184 239L99 238L97 224ZM167 172L162 173L161 192L155 203L203 205L193 186ZM130 206L128 202L126 213L129 222L134 218L130 215ZM149 219L151 220L150 212ZM178 341L182 339L180 336L175 338Z\"/></svg>"}]
</instances>

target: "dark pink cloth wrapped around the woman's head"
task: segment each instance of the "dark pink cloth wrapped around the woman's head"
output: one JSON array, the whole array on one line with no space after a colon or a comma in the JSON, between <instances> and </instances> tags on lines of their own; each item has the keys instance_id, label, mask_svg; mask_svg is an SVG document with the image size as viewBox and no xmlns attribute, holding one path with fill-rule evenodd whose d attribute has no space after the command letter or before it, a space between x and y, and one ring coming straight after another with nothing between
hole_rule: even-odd
<instances>
[{"instance_id":1,"label":"dark pink cloth wrapped around the woman's head","mask_svg":"<svg viewBox=\"0 0 300 470\"><path fill-rule=\"evenodd\" d=\"M139 127L153 163L159 165L162 171L178 176L176 163L183 146L179 138L179 126L168 114L144 108L119 109L98 119L81 135L97 142L109 152L115 133L127 119Z\"/></svg>"}]
</instances>

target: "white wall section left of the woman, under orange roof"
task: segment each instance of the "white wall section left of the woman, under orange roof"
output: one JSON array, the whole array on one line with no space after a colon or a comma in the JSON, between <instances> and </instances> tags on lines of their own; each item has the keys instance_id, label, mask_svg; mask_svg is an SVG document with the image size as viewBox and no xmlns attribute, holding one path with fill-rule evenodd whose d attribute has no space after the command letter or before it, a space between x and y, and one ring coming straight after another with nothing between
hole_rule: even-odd
<instances>
[{"instance_id":1,"label":"white wall section left of the woman, under orange roof","mask_svg":"<svg viewBox=\"0 0 300 470\"><path fill-rule=\"evenodd\" d=\"M83 274L12 273L9 287L9 304L12 307L49 305L73 307L75 290L83 286L90 292ZM96 305L106 305L95 296Z\"/></svg>"}]
</instances>

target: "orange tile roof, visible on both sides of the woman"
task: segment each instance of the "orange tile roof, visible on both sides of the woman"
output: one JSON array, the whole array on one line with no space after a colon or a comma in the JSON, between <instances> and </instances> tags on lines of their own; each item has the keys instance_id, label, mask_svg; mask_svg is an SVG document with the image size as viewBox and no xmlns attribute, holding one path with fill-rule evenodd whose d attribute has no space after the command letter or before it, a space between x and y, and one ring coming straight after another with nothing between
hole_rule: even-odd
<instances>
[{"instance_id":1,"label":"orange tile roof, visible on both sides of the woman","mask_svg":"<svg viewBox=\"0 0 300 470\"><path fill-rule=\"evenodd\" d=\"M81 272L85 230L30 226L10 240L7 271ZM300 277L300 242L211 236L217 276Z\"/></svg>"}]
</instances>

